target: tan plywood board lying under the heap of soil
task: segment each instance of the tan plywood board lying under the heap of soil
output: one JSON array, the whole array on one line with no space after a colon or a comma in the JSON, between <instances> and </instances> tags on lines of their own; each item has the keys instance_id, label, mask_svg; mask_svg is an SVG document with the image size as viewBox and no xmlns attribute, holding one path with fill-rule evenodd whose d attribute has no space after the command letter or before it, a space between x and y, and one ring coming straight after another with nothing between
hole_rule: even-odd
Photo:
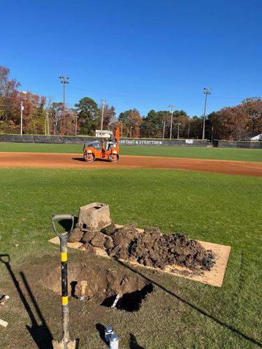
<instances>
[{"instance_id":1,"label":"tan plywood board lying under the heap of soil","mask_svg":"<svg viewBox=\"0 0 262 349\"><path fill-rule=\"evenodd\" d=\"M116 225L117 228L121 228L122 225ZM143 232L143 229L138 229L138 232ZM53 237L49 240L49 242L52 242L52 244L60 244L59 237ZM138 262L129 262L129 264L138 266L138 267L144 267L147 269L153 269L157 270L159 272L164 272L168 274L172 274L174 276L180 276L185 279L190 279L194 281L199 281L201 283L207 283L208 285L221 287L223 280L224 280L224 274L226 272L226 265L228 262L229 253L231 250L231 246L225 246L225 245L219 245L219 244L212 244L212 242L202 242L198 241L204 248L208 250L212 250L215 259L216 264L214 267L208 271L199 271L199 272L192 272L190 269L186 267L180 267L177 265L168 265L165 269L158 269L154 267L145 267L144 265L140 265ZM82 244L80 242L68 242L68 248L76 248L81 249ZM101 257L110 258L110 256L102 249L102 248L94 248L96 255L99 255ZM85 248L82 248L82 251L85 251ZM122 262L126 262L126 260L121 260Z\"/></svg>"}]
</instances>

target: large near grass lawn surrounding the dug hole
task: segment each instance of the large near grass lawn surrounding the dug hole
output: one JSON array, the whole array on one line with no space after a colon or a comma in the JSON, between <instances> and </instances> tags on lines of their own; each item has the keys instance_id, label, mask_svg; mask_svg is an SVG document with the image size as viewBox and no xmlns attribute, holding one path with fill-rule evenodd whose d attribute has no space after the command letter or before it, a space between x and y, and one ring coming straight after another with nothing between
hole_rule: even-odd
<instances>
[{"instance_id":1,"label":"large near grass lawn surrounding the dug hole","mask_svg":"<svg viewBox=\"0 0 262 349\"><path fill-rule=\"evenodd\" d=\"M59 248L48 243L53 236L50 216L77 216L82 205L107 202L115 223L136 221L141 228L156 226L163 232L230 245L231 255L222 288L140 268L157 285L137 313L108 309L99 318L91 303L78 305L79 313L71 311L71 318L92 323L89 327L81 327L80 320L71 324L71 337L80 337L80 348L107 348L96 330L98 322L115 326L122 349L261 346L262 178L152 169L1 168L0 175L0 253L10 255L17 278L20 272L27 276L55 339L61 335L59 297L47 290L43 297L37 291L41 285L32 285L30 279L41 263L57 261L59 265ZM79 255L82 252L70 250L68 263ZM116 264L108 260L108 267ZM35 348L28 311L0 262L2 293L10 295L0 309L0 318L9 322L0 329L2 348ZM28 292L23 294L30 299Z\"/></svg>"}]
</instances>

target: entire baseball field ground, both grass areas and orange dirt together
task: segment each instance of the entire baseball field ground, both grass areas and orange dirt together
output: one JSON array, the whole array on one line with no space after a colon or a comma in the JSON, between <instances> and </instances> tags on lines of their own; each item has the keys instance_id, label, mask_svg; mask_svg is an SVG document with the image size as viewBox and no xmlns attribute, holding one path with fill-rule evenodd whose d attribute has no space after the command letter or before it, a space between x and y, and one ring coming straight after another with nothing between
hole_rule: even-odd
<instances>
[{"instance_id":1,"label":"entire baseball field ground, both grass areas and orange dirt together","mask_svg":"<svg viewBox=\"0 0 262 349\"><path fill-rule=\"evenodd\" d=\"M262 347L262 150L121 147L118 163L82 161L72 144L0 144L1 348L52 348L61 339L60 296L47 280L59 268L51 215L89 202L110 206L112 221L136 222L231 246L221 288L68 250L68 266L115 270L150 281L138 311L70 297L70 333L80 348ZM48 279L49 278L49 279Z\"/></svg>"}]
</instances>

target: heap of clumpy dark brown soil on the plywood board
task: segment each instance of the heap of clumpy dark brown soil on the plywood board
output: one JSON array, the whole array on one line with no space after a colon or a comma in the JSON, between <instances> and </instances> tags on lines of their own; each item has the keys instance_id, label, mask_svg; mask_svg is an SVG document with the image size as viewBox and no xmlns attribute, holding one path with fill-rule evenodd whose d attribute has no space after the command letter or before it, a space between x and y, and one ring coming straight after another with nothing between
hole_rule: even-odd
<instances>
[{"instance_id":1,"label":"heap of clumpy dark brown soil on the plywood board","mask_svg":"<svg viewBox=\"0 0 262 349\"><path fill-rule=\"evenodd\" d=\"M157 228L145 228L139 233L136 223L120 229L110 225L100 232L88 232L82 242L88 251L104 248L112 258L147 267L164 269L167 265L180 265L191 270L210 270L215 264L214 253L187 235L163 235Z\"/></svg>"}]
</instances>

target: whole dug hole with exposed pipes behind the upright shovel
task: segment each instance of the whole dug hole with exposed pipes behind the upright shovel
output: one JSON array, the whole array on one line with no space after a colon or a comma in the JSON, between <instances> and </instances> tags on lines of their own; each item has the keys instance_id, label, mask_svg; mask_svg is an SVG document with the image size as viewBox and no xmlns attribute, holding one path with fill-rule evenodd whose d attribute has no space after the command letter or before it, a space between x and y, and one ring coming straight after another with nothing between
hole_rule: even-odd
<instances>
[{"instance_id":1,"label":"whole dug hole with exposed pipes behind the upright shovel","mask_svg":"<svg viewBox=\"0 0 262 349\"><path fill-rule=\"evenodd\" d=\"M60 267L48 273L41 283L61 294ZM96 302L101 306L111 307L117 295L119 301L115 309L138 311L143 301L153 292L152 283L124 271L89 267L84 263L73 262L68 265L68 296L80 299L81 281L87 281L84 302Z\"/></svg>"}]
</instances>

